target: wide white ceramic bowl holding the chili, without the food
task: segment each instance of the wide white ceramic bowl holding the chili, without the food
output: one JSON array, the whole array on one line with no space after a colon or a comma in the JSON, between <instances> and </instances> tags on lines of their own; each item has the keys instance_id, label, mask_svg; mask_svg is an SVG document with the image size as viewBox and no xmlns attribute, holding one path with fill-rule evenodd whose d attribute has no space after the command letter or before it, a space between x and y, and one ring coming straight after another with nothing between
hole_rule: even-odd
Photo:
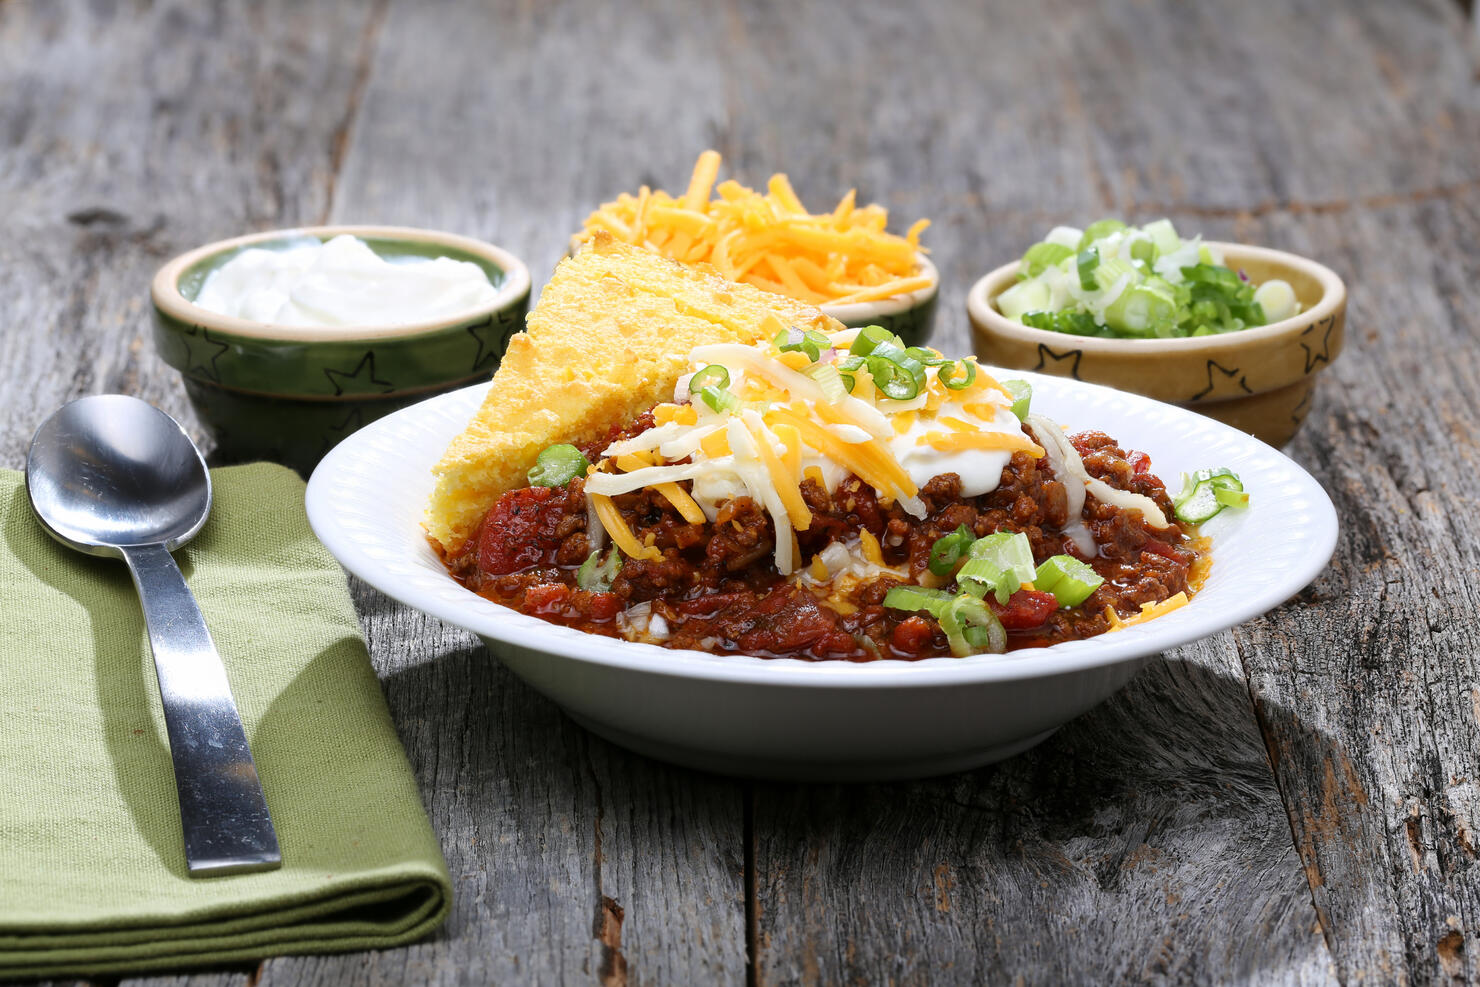
<instances>
[{"instance_id":1,"label":"wide white ceramic bowl holding the chili, without the food","mask_svg":"<svg viewBox=\"0 0 1480 987\"><path fill-rule=\"evenodd\" d=\"M1177 482L1234 469L1251 506L1205 525L1214 567L1191 604L1125 630L1045 650L922 661L799 661L673 651L582 633L463 589L422 533L431 468L487 385L374 422L308 484L314 531L379 590L466 627L576 722L676 764L770 778L884 780L962 771L1026 750L1125 685L1154 654L1283 602L1336 543L1331 499L1294 462L1227 425L1076 380L1033 383L1036 410L1151 454Z\"/></svg>"}]
</instances>

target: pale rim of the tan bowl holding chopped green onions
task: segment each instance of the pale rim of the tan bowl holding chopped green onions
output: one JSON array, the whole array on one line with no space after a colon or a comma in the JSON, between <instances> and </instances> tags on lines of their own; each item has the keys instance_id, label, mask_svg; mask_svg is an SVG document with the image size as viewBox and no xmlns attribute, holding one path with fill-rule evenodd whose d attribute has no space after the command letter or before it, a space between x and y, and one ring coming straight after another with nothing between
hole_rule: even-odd
<instances>
[{"instance_id":1,"label":"pale rim of the tan bowl holding chopped green onions","mask_svg":"<svg viewBox=\"0 0 1480 987\"><path fill-rule=\"evenodd\" d=\"M996 309L993 303L1002 293L1008 281L1017 274L1021 260L1003 263L981 275L966 293L966 315L972 329L992 331L1024 343L1046 343L1063 346L1066 340L1073 340L1077 349L1092 354L1196 354L1200 349L1227 349L1236 345L1252 345L1277 339L1292 330L1304 330L1313 321L1332 317L1347 305L1347 286L1341 277L1323 263L1302 257L1286 250L1273 247L1257 247L1252 244L1227 243L1221 240L1205 240L1209 247L1218 247L1224 253L1224 260L1237 263L1239 257L1264 260L1271 265L1282 265L1292 271L1299 271L1314 278L1320 287L1320 299L1308 309L1296 312L1268 326L1240 329L1234 333L1215 333L1212 336L1181 336L1175 339L1120 339L1107 336L1073 336L1070 333L1055 333L1048 329L1033 329L1014 323ZM1231 265L1230 265L1231 266Z\"/></svg>"}]
</instances>

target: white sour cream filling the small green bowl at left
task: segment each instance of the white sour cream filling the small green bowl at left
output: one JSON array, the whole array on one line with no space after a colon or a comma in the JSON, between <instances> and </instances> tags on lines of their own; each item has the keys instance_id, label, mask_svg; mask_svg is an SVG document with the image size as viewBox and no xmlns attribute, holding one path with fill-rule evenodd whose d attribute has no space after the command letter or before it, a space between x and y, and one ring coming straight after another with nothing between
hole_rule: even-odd
<instances>
[{"instance_id":1,"label":"white sour cream filling the small green bowl at left","mask_svg":"<svg viewBox=\"0 0 1480 987\"><path fill-rule=\"evenodd\" d=\"M340 234L284 250L252 247L207 275L195 305L271 326L403 326L497 297L482 268L451 257L386 260Z\"/></svg>"}]
</instances>

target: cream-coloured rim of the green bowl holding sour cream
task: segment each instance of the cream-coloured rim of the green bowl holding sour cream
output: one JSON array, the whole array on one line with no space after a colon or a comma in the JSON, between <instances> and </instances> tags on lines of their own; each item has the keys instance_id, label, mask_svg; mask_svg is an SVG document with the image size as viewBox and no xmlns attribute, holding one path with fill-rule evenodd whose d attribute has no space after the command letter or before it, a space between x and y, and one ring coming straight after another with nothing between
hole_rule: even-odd
<instances>
[{"instance_id":1,"label":"cream-coloured rim of the green bowl holding sour cream","mask_svg":"<svg viewBox=\"0 0 1480 987\"><path fill-rule=\"evenodd\" d=\"M472 253L497 265L505 272L503 284L499 286L493 299L477 308L465 309L456 315L425 323L400 323L395 326L277 326L272 323L258 323L253 320L222 315L209 308L195 305L179 290L181 275L195 263L215 255L249 247L272 240L289 237L317 237L329 240L340 234L371 240L401 240L407 243L425 243L454 247L463 253ZM186 250L167 260L155 271L149 281L149 300L163 314L192 326L204 326L212 331L231 333L247 339L293 343L323 343L323 342L357 342L366 339L398 339L414 337L443 331L491 315L519 297L530 293L530 269L515 255L503 247L494 246L474 237L444 232L440 229L422 229L419 226L379 226L379 225L320 225L320 226L289 226L283 229L265 229L260 232L243 234L226 240L216 240L204 246Z\"/></svg>"}]
</instances>

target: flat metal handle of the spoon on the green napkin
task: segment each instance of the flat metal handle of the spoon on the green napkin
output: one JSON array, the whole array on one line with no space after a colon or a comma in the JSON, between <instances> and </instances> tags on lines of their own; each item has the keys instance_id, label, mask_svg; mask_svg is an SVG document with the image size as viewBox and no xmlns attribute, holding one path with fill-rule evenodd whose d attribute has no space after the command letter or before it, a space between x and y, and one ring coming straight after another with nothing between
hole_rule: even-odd
<instances>
[{"instance_id":1,"label":"flat metal handle of the spoon on the green napkin","mask_svg":"<svg viewBox=\"0 0 1480 987\"><path fill-rule=\"evenodd\" d=\"M144 604L191 876L283 864L258 767L206 619L163 545L123 558Z\"/></svg>"}]
</instances>

